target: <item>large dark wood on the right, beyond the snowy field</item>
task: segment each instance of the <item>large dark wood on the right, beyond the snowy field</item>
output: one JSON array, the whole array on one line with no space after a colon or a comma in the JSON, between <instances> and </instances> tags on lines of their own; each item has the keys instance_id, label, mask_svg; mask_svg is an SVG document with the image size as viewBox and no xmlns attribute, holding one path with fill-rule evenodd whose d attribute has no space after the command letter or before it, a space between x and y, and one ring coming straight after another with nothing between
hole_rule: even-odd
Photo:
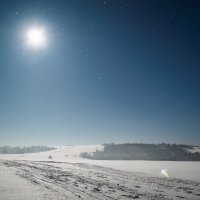
<instances>
[{"instance_id":1,"label":"large dark wood on the right, beyond the snowy field","mask_svg":"<svg viewBox=\"0 0 200 200\"><path fill-rule=\"evenodd\" d=\"M104 144L103 151L83 152L83 158L94 160L171 160L200 161L200 153L190 153L190 145L177 144Z\"/></svg>"}]
</instances>

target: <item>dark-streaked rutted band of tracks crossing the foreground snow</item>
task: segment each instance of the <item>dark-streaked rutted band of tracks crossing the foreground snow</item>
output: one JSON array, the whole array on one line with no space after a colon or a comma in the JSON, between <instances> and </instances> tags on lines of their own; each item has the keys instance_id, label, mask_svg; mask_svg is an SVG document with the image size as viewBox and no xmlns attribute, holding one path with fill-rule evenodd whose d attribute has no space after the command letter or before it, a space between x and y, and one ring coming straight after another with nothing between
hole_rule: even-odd
<instances>
[{"instance_id":1,"label":"dark-streaked rutted band of tracks crossing the foreground snow","mask_svg":"<svg viewBox=\"0 0 200 200\"><path fill-rule=\"evenodd\" d=\"M59 199L200 199L200 183L148 177L89 164L0 161Z\"/></svg>"}]
</instances>

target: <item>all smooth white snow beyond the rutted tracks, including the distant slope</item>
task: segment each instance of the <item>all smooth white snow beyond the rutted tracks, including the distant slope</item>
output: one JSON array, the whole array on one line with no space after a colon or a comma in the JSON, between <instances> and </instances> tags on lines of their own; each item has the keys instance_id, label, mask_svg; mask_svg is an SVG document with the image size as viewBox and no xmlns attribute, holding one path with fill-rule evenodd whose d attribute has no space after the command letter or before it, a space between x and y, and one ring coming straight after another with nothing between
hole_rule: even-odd
<instances>
[{"instance_id":1,"label":"all smooth white snow beyond the rutted tracks, including the distant slope","mask_svg":"<svg viewBox=\"0 0 200 200\"><path fill-rule=\"evenodd\" d=\"M171 178L181 178L200 181L200 162L190 161L138 161L138 160L89 160L80 157L81 152L92 153L96 150L103 150L102 145L82 145L82 146L54 146L56 150L29 153L29 154L0 154L0 159L4 160L29 160L29 161L54 161L69 163L88 163L103 167L125 170L130 172L145 173L150 176L164 175L162 170L166 170ZM49 159L49 155L53 159Z\"/></svg>"}]
</instances>

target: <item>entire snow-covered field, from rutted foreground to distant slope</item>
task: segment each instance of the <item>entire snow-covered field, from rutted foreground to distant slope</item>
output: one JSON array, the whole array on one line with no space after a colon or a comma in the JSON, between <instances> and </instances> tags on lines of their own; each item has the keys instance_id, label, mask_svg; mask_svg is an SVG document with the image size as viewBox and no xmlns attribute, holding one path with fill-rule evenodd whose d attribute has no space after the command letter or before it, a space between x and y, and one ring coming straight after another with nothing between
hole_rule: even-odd
<instances>
[{"instance_id":1,"label":"entire snow-covered field, from rutted foreground to distant slope","mask_svg":"<svg viewBox=\"0 0 200 200\"><path fill-rule=\"evenodd\" d=\"M0 154L0 199L200 199L200 162L79 157L102 148L61 146L41 153Z\"/></svg>"}]
</instances>

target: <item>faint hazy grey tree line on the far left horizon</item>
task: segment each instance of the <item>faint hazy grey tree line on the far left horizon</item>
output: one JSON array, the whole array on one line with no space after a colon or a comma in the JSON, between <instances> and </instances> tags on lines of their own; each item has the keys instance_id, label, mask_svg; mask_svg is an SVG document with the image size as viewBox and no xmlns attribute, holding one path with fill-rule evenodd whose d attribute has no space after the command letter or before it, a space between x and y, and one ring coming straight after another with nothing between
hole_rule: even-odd
<instances>
[{"instance_id":1,"label":"faint hazy grey tree line on the far left horizon","mask_svg":"<svg viewBox=\"0 0 200 200\"><path fill-rule=\"evenodd\" d=\"M36 152L43 152L54 150L54 147L47 147L47 146L30 146L30 147L12 147L12 146L1 146L0 147L0 154L24 154L24 153L36 153Z\"/></svg>"}]
</instances>

